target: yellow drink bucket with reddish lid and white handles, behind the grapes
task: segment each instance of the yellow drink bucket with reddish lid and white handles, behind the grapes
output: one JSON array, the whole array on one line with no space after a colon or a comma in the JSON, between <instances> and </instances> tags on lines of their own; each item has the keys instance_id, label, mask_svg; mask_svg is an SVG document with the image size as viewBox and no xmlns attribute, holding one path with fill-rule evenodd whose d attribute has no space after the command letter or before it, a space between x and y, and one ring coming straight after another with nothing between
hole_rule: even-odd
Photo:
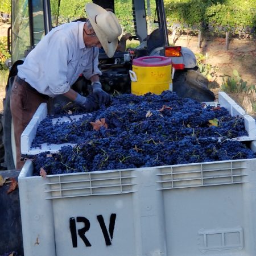
<instances>
[{"instance_id":1,"label":"yellow drink bucket with reddish lid and white handles, behind the grapes","mask_svg":"<svg viewBox=\"0 0 256 256\"><path fill-rule=\"evenodd\" d=\"M172 89L172 61L164 56L146 56L133 60L129 71L131 93L143 95L151 92L161 94Z\"/></svg>"}]
</instances>

